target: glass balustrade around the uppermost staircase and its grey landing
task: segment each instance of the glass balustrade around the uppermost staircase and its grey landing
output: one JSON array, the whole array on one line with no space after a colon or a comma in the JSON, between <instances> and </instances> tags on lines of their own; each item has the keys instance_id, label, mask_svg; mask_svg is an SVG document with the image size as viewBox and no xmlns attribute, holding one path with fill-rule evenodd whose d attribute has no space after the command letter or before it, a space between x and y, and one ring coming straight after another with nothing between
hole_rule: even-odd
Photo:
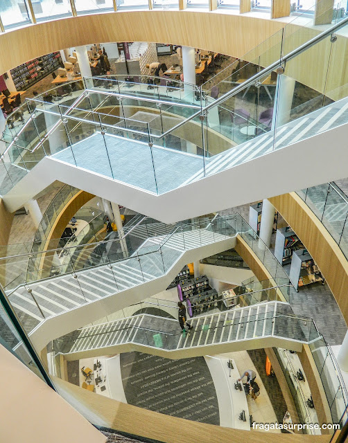
<instances>
[{"instance_id":1,"label":"glass balustrade around the uppermost staircase and its grey landing","mask_svg":"<svg viewBox=\"0 0 348 443\"><path fill-rule=\"evenodd\" d=\"M329 35L288 60L283 75L266 73L254 85L243 87L247 78L277 60L280 48L286 57L298 39L307 42L313 37L307 33L304 38L297 34L301 30L292 34L289 30L285 50L284 38L277 33L268 42L268 51L244 66L238 62L227 88L231 89L234 82L241 89L235 89L225 100L218 99L217 104L205 93L198 93L196 101L197 91L191 85L189 89L185 84L171 87L173 95L177 94L177 102L173 103L163 100L163 94L156 89L150 89L150 96L141 97L124 92L135 87L134 92L138 89L139 93L148 85L105 78L85 79L84 87L91 84L93 89L84 94L78 89L71 104L53 99L47 102L45 98L27 100L27 106L35 112L24 127L14 129L12 140L8 133L4 136L1 193L8 192L44 156L53 155L158 195L342 125L347 119L345 80L333 80L336 74L332 66L344 51L345 37L340 36L343 31L338 30L337 40ZM307 57L313 58L313 66L317 66L316 89L322 95L308 103L303 99L300 104L298 100L290 103L288 94L294 96L296 83L301 80L297 73L307 72L302 69ZM222 81L226 84L226 80ZM94 86L95 82L98 86ZM107 89L109 83L112 89ZM247 105L249 99L252 107ZM238 100L244 100L243 108ZM270 100L271 107L266 108L264 100ZM94 161L96 155L98 163ZM120 162L122 168L117 168ZM139 167L139 177L132 177L130 164Z\"/></svg>"}]
</instances>

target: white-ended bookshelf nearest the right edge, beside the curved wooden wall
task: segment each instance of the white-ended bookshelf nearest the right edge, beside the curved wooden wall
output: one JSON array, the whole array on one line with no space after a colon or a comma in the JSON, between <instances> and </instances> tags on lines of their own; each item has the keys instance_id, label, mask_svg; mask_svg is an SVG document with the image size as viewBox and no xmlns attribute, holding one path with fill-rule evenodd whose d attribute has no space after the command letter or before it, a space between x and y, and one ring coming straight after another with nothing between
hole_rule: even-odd
<instances>
[{"instance_id":1,"label":"white-ended bookshelf nearest the right edge, beside the curved wooden wall","mask_svg":"<svg viewBox=\"0 0 348 443\"><path fill-rule=\"evenodd\" d=\"M322 282L322 284L324 284L322 273L320 273L317 264L315 264L306 249L293 251L289 278L296 291L299 287L306 286L307 284L316 282Z\"/></svg>"}]
</instances>

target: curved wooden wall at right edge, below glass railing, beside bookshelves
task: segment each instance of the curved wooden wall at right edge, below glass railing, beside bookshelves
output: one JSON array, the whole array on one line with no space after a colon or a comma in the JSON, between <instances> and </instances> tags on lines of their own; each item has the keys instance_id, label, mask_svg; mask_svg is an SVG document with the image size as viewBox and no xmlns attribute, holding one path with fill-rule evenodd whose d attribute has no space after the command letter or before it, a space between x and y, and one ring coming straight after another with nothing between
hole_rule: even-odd
<instances>
[{"instance_id":1,"label":"curved wooden wall at right edge, below glass railing, beside bookshelves","mask_svg":"<svg viewBox=\"0 0 348 443\"><path fill-rule=\"evenodd\" d=\"M348 323L348 261L338 244L295 192L269 200L293 228L319 266Z\"/></svg>"}]
</instances>

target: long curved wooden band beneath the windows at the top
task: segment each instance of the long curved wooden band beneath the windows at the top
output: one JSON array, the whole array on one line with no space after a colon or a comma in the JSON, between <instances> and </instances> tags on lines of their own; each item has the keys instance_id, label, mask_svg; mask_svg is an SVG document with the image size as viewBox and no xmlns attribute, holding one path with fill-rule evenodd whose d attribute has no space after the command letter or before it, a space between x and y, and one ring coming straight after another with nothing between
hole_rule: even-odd
<instances>
[{"instance_id":1,"label":"long curved wooden band beneath the windows at the top","mask_svg":"<svg viewBox=\"0 0 348 443\"><path fill-rule=\"evenodd\" d=\"M283 26L284 23L279 20L216 11L138 10L68 17L1 34L0 46L8 50L0 55L0 73L35 57L91 42L180 44L234 57L243 57L248 53L243 57L245 60L267 66L279 60L281 33L278 31ZM284 52L314 37L320 30L288 24ZM289 62L286 74L321 93L329 89L327 96L333 100L344 96L342 89L346 88L339 87L348 84L348 71L345 69L347 42L346 37L338 35L337 42L333 44L329 82L326 76L327 55L331 48L329 39L306 51L296 61ZM312 69L308 69L308 66Z\"/></svg>"}]
</instances>

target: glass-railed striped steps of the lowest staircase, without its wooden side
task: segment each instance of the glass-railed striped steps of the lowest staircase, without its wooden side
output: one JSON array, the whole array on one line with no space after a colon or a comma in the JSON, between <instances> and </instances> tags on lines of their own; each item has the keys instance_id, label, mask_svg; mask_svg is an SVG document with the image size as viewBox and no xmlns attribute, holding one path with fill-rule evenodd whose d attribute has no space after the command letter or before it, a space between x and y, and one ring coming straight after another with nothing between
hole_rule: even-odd
<instances>
[{"instance_id":1,"label":"glass-railed striped steps of the lowest staircase, without its wooden side","mask_svg":"<svg viewBox=\"0 0 348 443\"><path fill-rule=\"evenodd\" d=\"M266 336L290 338L290 340L307 343L311 320L295 316L275 316L272 314L275 307L273 303L270 303L268 305L270 311L260 316L251 314L250 308L237 308L233 320L220 320L218 314L200 317L198 321L191 318L190 323L195 334L192 338L189 336L185 340L186 336L177 330L179 329L177 320L171 315L176 316L177 313L169 306L166 309L171 312L171 318L153 316L153 314L150 316L134 314L141 316L141 321L139 321L141 326L139 326L133 323L132 317L117 317L116 320L108 323L84 327L74 334L62 336L53 341L53 349L55 353L62 353L62 348L64 353L73 353L80 352L82 346L83 350L88 352L98 347L102 349L130 342L177 352L187 347L204 347L215 343L254 340ZM147 309L146 303L143 304L143 308L139 308L140 310ZM294 331L296 331L295 334ZM110 332L114 332L112 341L110 341ZM146 352L146 348L143 350ZM150 350L148 352L152 353Z\"/></svg>"}]
</instances>

